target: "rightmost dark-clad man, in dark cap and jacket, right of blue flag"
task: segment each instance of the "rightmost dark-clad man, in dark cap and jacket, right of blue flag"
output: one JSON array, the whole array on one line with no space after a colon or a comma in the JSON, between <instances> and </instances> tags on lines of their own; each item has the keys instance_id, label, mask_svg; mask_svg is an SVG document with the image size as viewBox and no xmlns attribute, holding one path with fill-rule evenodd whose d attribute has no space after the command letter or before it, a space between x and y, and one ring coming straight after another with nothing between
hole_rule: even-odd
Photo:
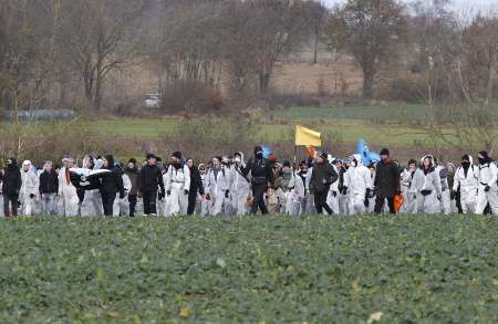
<instances>
[{"instance_id":1,"label":"rightmost dark-clad man, in dark cap and jacket, right of blue flag","mask_svg":"<svg viewBox=\"0 0 498 324\"><path fill-rule=\"evenodd\" d=\"M381 150L381 161L375 171L374 186L376 190L375 208L376 213L384 210L384 201L387 199L391 213L394 211L394 196L401 194L400 169L391 160L390 150Z\"/></svg>"}]
</instances>

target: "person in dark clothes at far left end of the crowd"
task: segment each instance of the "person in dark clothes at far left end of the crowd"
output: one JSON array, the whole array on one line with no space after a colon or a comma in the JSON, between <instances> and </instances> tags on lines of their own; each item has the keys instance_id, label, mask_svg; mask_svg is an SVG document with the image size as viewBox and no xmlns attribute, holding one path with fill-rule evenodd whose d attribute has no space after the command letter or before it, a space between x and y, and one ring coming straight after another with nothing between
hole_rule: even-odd
<instances>
[{"instance_id":1,"label":"person in dark clothes at far left end of the crowd","mask_svg":"<svg viewBox=\"0 0 498 324\"><path fill-rule=\"evenodd\" d=\"M19 191L22 185L21 170L14 158L9 158L6 165L2 182L3 215L6 217L18 216Z\"/></svg>"}]
</instances>

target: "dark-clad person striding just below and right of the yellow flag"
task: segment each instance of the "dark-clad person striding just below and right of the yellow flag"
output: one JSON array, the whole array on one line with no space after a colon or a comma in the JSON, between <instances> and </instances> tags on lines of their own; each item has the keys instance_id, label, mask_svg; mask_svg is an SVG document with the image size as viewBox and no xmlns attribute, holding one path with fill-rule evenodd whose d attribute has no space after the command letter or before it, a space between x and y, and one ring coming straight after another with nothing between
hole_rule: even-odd
<instances>
[{"instance_id":1,"label":"dark-clad person striding just below and right of the yellow flag","mask_svg":"<svg viewBox=\"0 0 498 324\"><path fill-rule=\"evenodd\" d=\"M314 195L314 207L320 215L323 209L329 215L332 215L332 209L326 203L326 196L329 195L330 186L338 180L338 173L328 160L328 154L321 153L317 157L317 163L313 166L310 179L310 190Z\"/></svg>"}]
</instances>

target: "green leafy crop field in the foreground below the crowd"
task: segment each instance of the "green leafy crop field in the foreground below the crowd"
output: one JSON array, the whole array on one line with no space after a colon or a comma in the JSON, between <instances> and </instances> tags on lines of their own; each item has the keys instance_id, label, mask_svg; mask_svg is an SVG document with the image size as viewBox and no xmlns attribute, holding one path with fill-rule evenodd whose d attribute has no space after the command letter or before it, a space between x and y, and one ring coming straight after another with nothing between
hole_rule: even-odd
<instances>
[{"instance_id":1,"label":"green leafy crop field in the foreground below the crowd","mask_svg":"<svg viewBox=\"0 0 498 324\"><path fill-rule=\"evenodd\" d=\"M2 323L497 323L498 219L19 218Z\"/></svg>"}]
</instances>

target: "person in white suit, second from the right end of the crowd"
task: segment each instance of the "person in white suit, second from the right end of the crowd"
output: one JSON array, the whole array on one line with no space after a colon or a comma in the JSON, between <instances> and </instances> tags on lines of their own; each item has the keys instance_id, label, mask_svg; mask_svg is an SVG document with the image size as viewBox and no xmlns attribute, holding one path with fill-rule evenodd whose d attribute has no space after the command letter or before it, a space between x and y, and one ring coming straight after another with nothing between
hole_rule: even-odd
<instances>
[{"instance_id":1,"label":"person in white suit, second from the right end of the crowd","mask_svg":"<svg viewBox=\"0 0 498 324\"><path fill-rule=\"evenodd\" d=\"M464 213L476 212L478 185L479 168L474 165L471 156L464 155L461 165L455 173L455 181L453 184L453 191L459 192L460 208Z\"/></svg>"}]
</instances>

